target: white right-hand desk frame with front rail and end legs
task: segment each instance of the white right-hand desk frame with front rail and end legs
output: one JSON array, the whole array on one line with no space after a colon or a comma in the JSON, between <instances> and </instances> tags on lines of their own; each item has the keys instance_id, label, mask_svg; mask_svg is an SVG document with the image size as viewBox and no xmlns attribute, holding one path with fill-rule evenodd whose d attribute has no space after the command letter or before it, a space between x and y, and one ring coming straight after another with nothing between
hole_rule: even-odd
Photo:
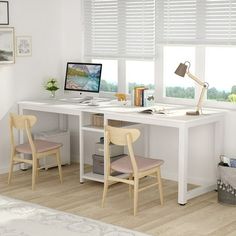
<instances>
[{"instance_id":1,"label":"white right-hand desk frame with front rail and end legs","mask_svg":"<svg viewBox=\"0 0 236 236\"><path fill-rule=\"evenodd\" d=\"M129 122L138 122L147 124L146 121L140 119L141 117L124 117L119 114L105 114L105 124L110 119L123 120ZM214 140L214 157L219 157L223 151L223 121L224 117L221 115L205 116L203 119L191 122L173 122L168 120L154 120L149 121L149 125L165 126L178 128L179 131L179 152L178 152L178 203L184 205L187 200L192 199L201 194L207 193L216 189L216 182L200 187L193 190L187 190L187 168L188 168L188 153L189 153L189 129L201 125L214 124L215 140ZM216 159L212 160L217 166Z\"/></svg>"}]
</instances>

